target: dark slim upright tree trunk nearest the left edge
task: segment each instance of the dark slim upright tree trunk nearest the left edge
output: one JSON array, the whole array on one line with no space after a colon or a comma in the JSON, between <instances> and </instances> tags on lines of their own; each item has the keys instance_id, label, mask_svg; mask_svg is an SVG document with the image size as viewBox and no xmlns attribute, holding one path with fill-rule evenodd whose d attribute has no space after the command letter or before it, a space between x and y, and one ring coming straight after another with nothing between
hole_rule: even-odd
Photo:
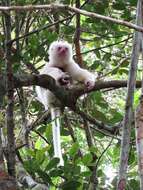
<instances>
[{"instance_id":1,"label":"dark slim upright tree trunk nearest the left edge","mask_svg":"<svg viewBox=\"0 0 143 190\"><path fill-rule=\"evenodd\" d=\"M10 5L10 0L6 1ZM11 61L11 15L5 14L5 65L6 65L6 127L7 127L7 168L10 176L15 178L15 137L14 137L14 81Z\"/></svg>"}]
</instances>

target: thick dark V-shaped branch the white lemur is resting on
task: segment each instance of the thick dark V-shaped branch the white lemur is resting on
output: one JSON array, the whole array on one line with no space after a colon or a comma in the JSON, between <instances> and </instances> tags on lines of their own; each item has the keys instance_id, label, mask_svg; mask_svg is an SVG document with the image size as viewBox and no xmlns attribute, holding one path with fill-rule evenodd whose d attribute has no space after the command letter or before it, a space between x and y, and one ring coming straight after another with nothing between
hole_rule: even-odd
<instances>
[{"instance_id":1,"label":"thick dark V-shaped branch the white lemur is resting on","mask_svg":"<svg viewBox=\"0 0 143 190\"><path fill-rule=\"evenodd\" d=\"M97 81L92 90L85 89L84 85L74 85L70 89L57 86L55 80L48 75L19 75L14 76L14 88L26 87L26 86L41 86L43 88L51 90L57 98L64 103L65 106L74 107L78 97L85 93L93 91L99 91L102 89L118 89L127 87L126 80L112 80L112 81ZM141 87L141 81L136 82L136 87ZM5 94L5 84L3 78L0 76L0 89L3 89L3 95Z\"/></svg>"}]
</instances>

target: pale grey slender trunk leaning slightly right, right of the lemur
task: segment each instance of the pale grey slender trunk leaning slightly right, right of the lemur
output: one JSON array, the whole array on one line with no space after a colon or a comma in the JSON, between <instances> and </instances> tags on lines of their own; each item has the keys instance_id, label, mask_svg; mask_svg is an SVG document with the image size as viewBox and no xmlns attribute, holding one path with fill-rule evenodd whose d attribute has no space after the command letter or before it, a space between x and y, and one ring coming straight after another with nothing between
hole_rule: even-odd
<instances>
[{"instance_id":1,"label":"pale grey slender trunk leaning slightly right, right of the lemur","mask_svg":"<svg viewBox=\"0 0 143 190\"><path fill-rule=\"evenodd\" d=\"M138 0L137 16L136 16L137 25L140 25L141 18L142 18L141 7L142 7L142 0ZM125 117L123 121L119 178L117 182L118 190L124 190L126 186L126 172L127 172L127 167L128 167L128 157L129 157L129 148L130 148L131 123L133 120L134 89L135 89L135 84L136 84L137 63L138 63L139 51L140 51L140 45L141 45L140 36L141 34L139 32L135 32L130 71L129 71L128 91L127 91L127 99L126 99L126 105L125 105Z\"/></svg>"}]
</instances>

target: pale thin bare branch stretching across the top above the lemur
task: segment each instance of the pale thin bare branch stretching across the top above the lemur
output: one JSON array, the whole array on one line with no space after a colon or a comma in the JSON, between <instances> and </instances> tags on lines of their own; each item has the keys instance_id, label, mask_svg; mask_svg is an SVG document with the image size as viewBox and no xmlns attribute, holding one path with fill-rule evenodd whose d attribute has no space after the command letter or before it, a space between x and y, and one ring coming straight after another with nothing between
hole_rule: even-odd
<instances>
[{"instance_id":1,"label":"pale thin bare branch stretching across the top above the lemur","mask_svg":"<svg viewBox=\"0 0 143 190\"><path fill-rule=\"evenodd\" d=\"M68 5L50 4L50 5L27 5L27 6L0 6L0 11L34 11L34 10L40 10L40 9L51 10L51 11L57 11L57 10L67 11L68 10L74 13L82 14L87 17L109 21L112 23L126 26L128 28L135 29L139 32L143 32L143 27L138 26L136 24L132 24L130 22L120 20L120 19L115 19L109 16L103 16L97 13L88 12L86 10L81 10L75 7L70 7Z\"/></svg>"}]
</instances>

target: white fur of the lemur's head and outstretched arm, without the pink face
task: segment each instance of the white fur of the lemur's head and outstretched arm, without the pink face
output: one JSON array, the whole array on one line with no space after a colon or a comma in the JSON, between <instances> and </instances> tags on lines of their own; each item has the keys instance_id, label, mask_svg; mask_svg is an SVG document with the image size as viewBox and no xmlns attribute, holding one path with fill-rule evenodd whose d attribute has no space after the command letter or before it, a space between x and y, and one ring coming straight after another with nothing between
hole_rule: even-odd
<instances>
[{"instance_id":1,"label":"white fur of the lemur's head and outstretched arm, without the pink face","mask_svg":"<svg viewBox=\"0 0 143 190\"><path fill-rule=\"evenodd\" d=\"M63 58L59 57L57 54L57 47L63 46L67 47L68 51L66 56ZM67 72L71 78L75 81L83 82L86 87L89 89L94 87L95 83L95 75L86 69L82 69L72 58L72 47L68 42L65 41L55 41L50 45L49 48L49 63L47 63L49 67L59 67L63 68L65 72Z\"/></svg>"}]
</instances>

